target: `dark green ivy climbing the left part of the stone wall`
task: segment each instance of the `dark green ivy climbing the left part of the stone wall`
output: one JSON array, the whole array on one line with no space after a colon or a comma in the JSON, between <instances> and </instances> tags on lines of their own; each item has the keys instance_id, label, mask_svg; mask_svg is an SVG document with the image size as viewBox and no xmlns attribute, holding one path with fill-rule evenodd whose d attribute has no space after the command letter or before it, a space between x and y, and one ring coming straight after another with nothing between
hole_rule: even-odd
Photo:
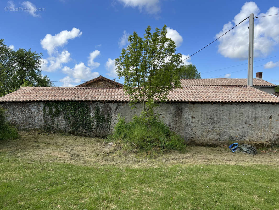
<instances>
[{"instance_id":1,"label":"dark green ivy climbing the left part of the stone wall","mask_svg":"<svg viewBox=\"0 0 279 210\"><path fill-rule=\"evenodd\" d=\"M110 110L101 110L98 104L93 105L92 108L93 110L88 102L47 102L43 107L45 129L58 130L59 117L61 116L66 122L64 129L71 130L71 132L79 132L80 130L101 132L103 129L109 129Z\"/></svg>"}]
</instances>

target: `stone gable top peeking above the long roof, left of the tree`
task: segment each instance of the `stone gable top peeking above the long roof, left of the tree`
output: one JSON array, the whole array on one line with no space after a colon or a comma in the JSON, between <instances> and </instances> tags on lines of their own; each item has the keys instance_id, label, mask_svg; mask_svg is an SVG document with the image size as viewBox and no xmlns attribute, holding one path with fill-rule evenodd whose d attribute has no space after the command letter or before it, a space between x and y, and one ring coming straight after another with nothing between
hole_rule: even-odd
<instances>
[{"instance_id":1,"label":"stone gable top peeking above the long roof, left of the tree","mask_svg":"<svg viewBox=\"0 0 279 210\"><path fill-rule=\"evenodd\" d=\"M89 80L85 83L77 85L76 87L123 87L123 85L114 80L103 77L102 75L98 76L95 79Z\"/></svg>"}]
</instances>

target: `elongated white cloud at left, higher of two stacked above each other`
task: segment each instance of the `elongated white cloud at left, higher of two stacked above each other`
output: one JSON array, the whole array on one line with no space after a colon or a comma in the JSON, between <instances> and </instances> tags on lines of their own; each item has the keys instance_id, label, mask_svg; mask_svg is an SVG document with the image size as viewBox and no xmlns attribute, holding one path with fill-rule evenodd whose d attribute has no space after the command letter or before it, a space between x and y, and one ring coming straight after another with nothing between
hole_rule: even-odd
<instances>
[{"instance_id":1,"label":"elongated white cloud at left, higher of two stacked above each other","mask_svg":"<svg viewBox=\"0 0 279 210\"><path fill-rule=\"evenodd\" d=\"M74 39L81 36L82 32L80 29L73 28L71 31L61 31L58 34L52 36L51 34L45 35L44 39L41 39L41 45L44 50L47 50L51 55L57 47L63 46L68 43L68 39Z\"/></svg>"}]
</instances>

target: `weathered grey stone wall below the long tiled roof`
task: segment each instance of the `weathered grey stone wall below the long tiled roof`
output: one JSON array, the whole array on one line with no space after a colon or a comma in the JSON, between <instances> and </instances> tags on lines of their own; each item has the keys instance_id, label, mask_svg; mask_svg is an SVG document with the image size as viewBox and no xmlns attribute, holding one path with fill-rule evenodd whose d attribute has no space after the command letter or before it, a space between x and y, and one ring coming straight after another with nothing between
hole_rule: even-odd
<instances>
[{"instance_id":1,"label":"weathered grey stone wall below the long tiled roof","mask_svg":"<svg viewBox=\"0 0 279 210\"><path fill-rule=\"evenodd\" d=\"M69 102L60 103L67 105ZM94 121L92 128L87 130L80 128L74 131L76 134L105 137L113 131L118 114L129 121L133 115L140 113L140 108L131 109L128 104L119 102L81 103L89 107L88 113L92 118L95 119L96 113L99 112L98 116L101 116L100 119L103 121L99 120L98 126ZM43 102L3 103L2 106L8 110L8 120L19 129L40 129L44 114L46 115L44 130L73 132L63 112L55 112L57 106L51 107L52 114L49 114L50 106L46 106ZM279 143L279 105L276 104L163 103L156 112L160 113L160 118L187 143L199 145L223 145L232 142L254 145Z\"/></svg>"}]
</instances>

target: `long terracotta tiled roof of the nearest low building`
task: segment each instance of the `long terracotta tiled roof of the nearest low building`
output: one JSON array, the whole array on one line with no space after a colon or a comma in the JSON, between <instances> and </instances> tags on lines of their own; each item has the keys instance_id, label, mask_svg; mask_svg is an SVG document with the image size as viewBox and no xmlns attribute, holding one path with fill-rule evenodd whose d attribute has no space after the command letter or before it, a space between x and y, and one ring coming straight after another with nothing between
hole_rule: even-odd
<instances>
[{"instance_id":1,"label":"long terracotta tiled roof of the nearest low building","mask_svg":"<svg viewBox=\"0 0 279 210\"><path fill-rule=\"evenodd\" d=\"M171 102L263 102L279 98L250 86L192 86L172 90ZM0 98L0 102L29 101L115 101L128 102L123 88L21 87Z\"/></svg>"}]
</instances>

